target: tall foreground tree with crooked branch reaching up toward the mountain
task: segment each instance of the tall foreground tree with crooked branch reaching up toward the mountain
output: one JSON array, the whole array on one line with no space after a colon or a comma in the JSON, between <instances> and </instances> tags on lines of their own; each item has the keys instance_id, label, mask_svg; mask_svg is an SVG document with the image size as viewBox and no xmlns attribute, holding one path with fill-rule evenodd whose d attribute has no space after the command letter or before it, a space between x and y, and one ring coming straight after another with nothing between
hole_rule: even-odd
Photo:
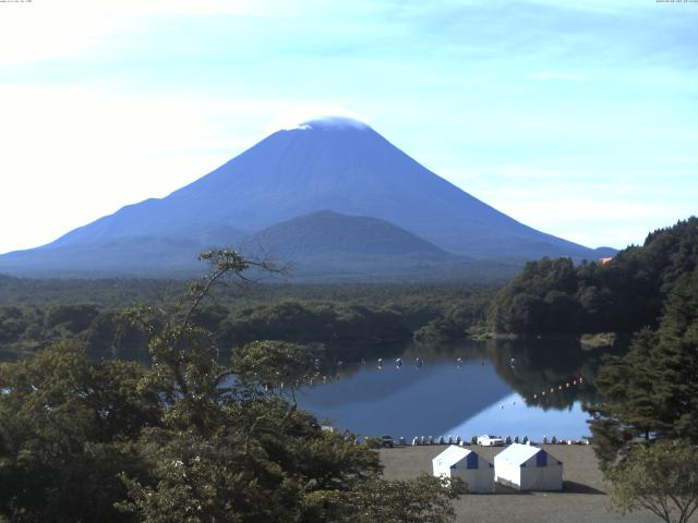
<instances>
[{"instance_id":1,"label":"tall foreground tree with crooked branch reaching up toward the mountain","mask_svg":"<svg viewBox=\"0 0 698 523\"><path fill-rule=\"evenodd\" d=\"M122 474L129 496L119 507L145 523L320 523L327 521L326 512L316 501L326 499L336 521L354 521L356 504L368 499L371 482L380 494L393 487L394 512L398 491L377 477L377 453L323 430L297 409L296 388L317 375L315 349L258 341L233 352L230 365L219 361L214 339L191 318L214 283L227 273L241 277L248 263L233 252L204 258L214 270L191 285L183 312L132 312L152 333L153 367L144 380L160 390L164 423L144 430L139 440L154 481ZM291 403L280 393L281 382ZM265 390L265 384L272 387ZM453 514L445 509L450 490L430 484L426 500L422 484L405 484L409 488L399 499L407 502L410 492L421 492L419 510L408 510L431 518L429 510L438 508L444 515L433 521L446 521Z\"/></svg>"}]
</instances>

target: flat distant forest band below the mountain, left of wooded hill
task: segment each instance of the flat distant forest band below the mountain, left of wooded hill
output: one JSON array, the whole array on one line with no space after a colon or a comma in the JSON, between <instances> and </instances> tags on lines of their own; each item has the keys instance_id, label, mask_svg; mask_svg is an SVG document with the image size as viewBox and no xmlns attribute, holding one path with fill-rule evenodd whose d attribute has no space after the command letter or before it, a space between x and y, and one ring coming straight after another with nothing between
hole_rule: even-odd
<instances>
[{"instance_id":1,"label":"flat distant forest band below the mountain, left of wooded hill","mask_svg":"<svg viewBox=\"0 0 698 523\"><path fill-rule=\"evenodd\" d=\"M184 289L161 280L32 280L0 277L0 357L76 339L95 358L147 358L147 336L122 311L173 303ZM261 339L332 345L336 357L358 357L356 345L464 338L484 323L493 287L261 284L217 290L194 323L215 335L227 354ZM354 345L354 349L350 349Z\"/></svg>"}]
</instances>

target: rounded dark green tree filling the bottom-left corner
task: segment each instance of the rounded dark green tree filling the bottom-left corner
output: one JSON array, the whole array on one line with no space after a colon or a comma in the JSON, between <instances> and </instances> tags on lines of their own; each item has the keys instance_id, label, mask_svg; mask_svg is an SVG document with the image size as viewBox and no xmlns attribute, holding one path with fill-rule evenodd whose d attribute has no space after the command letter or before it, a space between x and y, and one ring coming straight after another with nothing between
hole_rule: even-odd
<instances>
[{"instance_id":1,"label":"rounded dark green tree filling the bottom-left corner","mask_svg":"<svg viewBox=\"0 0 698 523\"><path fill-rule=\"evenodd\" d=\"M0 520L134 521L115 509L127 495L118 474L147 482L131 441L161 414L141 377L71 343L0 364Z\"/></svg>"}]
</instances>

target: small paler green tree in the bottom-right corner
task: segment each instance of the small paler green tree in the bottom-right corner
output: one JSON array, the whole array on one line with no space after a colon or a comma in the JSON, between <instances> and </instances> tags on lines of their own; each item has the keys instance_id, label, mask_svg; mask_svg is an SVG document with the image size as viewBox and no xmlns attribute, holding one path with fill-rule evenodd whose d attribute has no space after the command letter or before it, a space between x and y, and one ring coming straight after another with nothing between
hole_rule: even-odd
<instances>
[{"instance_id":1,"label":"small paler green tree in the bottom-right corner","mask_svg":"<svg viewBox=\"0 0 698 523\"><path fill-rule=\"evenodd\" d=\"M687 523L698 509L698 447L677 440L638 447L609 478L615 510L647 509L666 523Z\"/></svg>"}]
</instances>

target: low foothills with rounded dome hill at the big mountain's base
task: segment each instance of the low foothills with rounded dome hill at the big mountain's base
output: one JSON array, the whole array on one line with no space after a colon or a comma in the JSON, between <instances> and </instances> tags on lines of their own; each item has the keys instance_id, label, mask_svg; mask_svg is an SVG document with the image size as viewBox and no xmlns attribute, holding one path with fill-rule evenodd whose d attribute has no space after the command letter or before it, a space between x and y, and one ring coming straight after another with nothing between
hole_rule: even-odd
<instances>
[{"instance_id":1,"label":"low foothills with rounded dome hill at the big mountain's base","mask_svg":"<svg viewBox=\"0 0 698 523\"><path fill-rule=\"evenodd\" d=\"M518 262L456 256L385 220L317 211L254 234L218 228L208 234L123 236L47 245L0 257L0 272L41 277L182 277L201 271L197 254L220 246L289 268L299 281L503 281ZM49 269L50 268L50 269Z\"/></svg>"}]
</instances>

